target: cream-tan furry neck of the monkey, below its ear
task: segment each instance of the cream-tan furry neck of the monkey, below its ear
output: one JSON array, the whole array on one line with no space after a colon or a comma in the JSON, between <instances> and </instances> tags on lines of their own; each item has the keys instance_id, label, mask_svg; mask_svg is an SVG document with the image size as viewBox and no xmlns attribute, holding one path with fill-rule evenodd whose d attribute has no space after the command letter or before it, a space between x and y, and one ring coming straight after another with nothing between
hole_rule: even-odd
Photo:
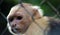
<instances>
[{"instance_id":1,"label":"cream-tan furry neck of the monkey, below its ear","mask_svg":"<svg viewBox=\"0 0 60 35\"><path fill-rule=\"evenodd\" d=\"M42 17L35 21L36 21L36 23L32 22L32 24L30 25L28 30L25 32L25 35L43 35L43 30L45 30L46 27L48 26L47 17Z\"/></svg>"}]
</instances>

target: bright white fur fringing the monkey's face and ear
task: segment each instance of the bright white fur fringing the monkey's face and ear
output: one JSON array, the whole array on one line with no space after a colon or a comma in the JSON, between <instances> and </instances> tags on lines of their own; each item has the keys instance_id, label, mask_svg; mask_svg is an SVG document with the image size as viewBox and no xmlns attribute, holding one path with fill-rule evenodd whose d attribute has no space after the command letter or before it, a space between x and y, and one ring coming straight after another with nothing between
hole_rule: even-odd
<instances>
[{"instance_id":1,"label":"bright white fur fringing the monkey's face and ear","mask_svg":"<svg viewBox=\"0 0 60 35\"><path fill-rule=\"evenodd\" d=\"M9 16L13 14L12 11L13 11L13 10L16 11L18 8L19 8L18 5L11 8L11 11L9 12L9 14L8 14L8 16L7 16L7 20L8 20L8 18L9 18ZM38 12L39 12L39 14L40 14L40 16L41 16L41 17L43 16L43 10L42 10L39 6L31 6L31 8L32 8L32 9L37 9ZM21 33L17 33L17 34L14 33L14 32L11 30L12 27L10 26L10 23L9 23L9 22L7 23L7 27L8 27L8 29L9 29L10 33L12 33L13 35L21 34Z\"/></svg>"}]
</instances>

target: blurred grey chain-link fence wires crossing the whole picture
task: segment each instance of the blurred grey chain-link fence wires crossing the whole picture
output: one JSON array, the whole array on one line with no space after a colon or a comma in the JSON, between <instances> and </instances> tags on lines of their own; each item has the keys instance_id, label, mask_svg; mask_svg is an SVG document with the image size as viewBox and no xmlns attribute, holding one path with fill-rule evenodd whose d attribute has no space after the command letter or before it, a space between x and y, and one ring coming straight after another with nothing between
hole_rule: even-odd
<instances>
[{"instance_id":1,"label":"blurred grey chain-link fence wires crossing the whole picture","mask_svg":"<svg viewBox=\"0 0 60 35\"><path fill-rule=\"evenodd\" d=\"M0 1L1 3L0 3L0 5L2 4L2 2L3 2L3 0L2 1ZM49 1L47 1L47 0L42 0L41 1L41 3L40 3L40 5L42 5L42 4L44 4L45 2L47 2L47 4L57 13L56 15L57 16L60 16L59 15L59 11L49 2ZM25 11L31 16L31 18L32 18L32 20L33 20L33 22L35 23L35 24L37 24L37 22L34 20L34 16L31 14L31 13L29 13L29 11L23 6L23 0L19 0L19 3L21 4L21 7L23 7L24 9L25 9ZM6 19L6 16L0 11L0 14ZM6 19L6 21L7 21L7 19ZM43 28L42 27L40 27L39 26L39 24L37 24L38 25L38 27L41 29L41 30L43 30ZM48 28L48 27L47 27ZM47 30L47 28L45 29L45 30L43 30L43 33L44 33L44 35L46 35L46 30ZM3 30L3 32L1 33L1 35L4 35L4 33L7 31L7 27Z\"/></svg>"}]
</instances>

